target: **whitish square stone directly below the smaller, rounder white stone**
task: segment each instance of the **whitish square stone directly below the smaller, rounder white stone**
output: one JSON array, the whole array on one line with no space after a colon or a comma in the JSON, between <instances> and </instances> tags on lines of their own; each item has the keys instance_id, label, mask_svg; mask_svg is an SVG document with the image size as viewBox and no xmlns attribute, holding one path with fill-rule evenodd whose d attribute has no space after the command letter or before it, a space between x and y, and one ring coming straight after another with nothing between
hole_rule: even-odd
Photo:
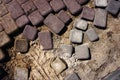
<instances>
[{"instance_id":1,"label":"whitish square stone directly below the smaller, rounder white stone","mask_svg":"<svg viewBox=\"0 0 120 80\"><path fill-rule=\"evenodd\" d=\"M73 43L83 42L83 32L81 30L73 29L70 31L69 39Z\"/></svg>"}]
</instances>

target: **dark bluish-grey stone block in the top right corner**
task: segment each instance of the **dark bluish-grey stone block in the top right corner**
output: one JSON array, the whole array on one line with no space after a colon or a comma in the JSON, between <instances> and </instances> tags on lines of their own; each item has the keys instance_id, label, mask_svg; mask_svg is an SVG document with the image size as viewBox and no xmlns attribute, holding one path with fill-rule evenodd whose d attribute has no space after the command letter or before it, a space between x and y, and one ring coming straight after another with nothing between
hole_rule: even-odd
<instances>
[{"instance_id":1,"label":"dark bluish-grey stone block in the top right corner","mask_svg":"<svg viewBox=\"0 0 120 80\"><path fill-rule=\"evenodd\" d=\"M117 15L120 10L120 2L116 0L110 0L106 10L113 15Z\"/></svg>"}]
</instances>

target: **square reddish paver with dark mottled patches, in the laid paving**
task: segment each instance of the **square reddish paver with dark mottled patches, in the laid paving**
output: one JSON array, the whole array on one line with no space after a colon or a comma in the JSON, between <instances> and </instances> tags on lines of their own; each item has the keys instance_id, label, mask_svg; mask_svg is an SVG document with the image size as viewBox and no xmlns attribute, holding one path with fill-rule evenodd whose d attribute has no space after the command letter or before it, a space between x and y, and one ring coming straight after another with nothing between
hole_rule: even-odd
<instances>
[{"instance_id":1,"label":"square reddish paver with dark mottled patches, in the laid paving","mask_svg":"<svg viewBox=\"0 0 120 80\"><path fill-rule=\"evenodd\" d=\"M22 4L22 8L24 9L24 11L27 15L32 13L33 11L35 11L37 9L36 6L34 5L34 3L31 0Z\"/></svg>"}]
</instances>

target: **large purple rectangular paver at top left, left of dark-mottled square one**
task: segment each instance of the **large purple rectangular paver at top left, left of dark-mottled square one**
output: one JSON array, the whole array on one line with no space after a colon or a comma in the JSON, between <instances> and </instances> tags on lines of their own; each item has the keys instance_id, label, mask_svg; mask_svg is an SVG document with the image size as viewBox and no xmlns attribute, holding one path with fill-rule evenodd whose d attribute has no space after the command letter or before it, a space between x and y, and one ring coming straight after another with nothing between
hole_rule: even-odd
<instances>
[{"instance_id":1,"label":"large purple rectangular paver at top left, left of dark-mottled square one","mask_svg":"<svg viewBox=\"0 0 120 80\"><path fill-rule=\"evenodd\" d=\"M7 9L11 13L13 19L17 19L24 14L23 9L16 0L13 0L7 4Z\"/></svg>"}]
</instances>

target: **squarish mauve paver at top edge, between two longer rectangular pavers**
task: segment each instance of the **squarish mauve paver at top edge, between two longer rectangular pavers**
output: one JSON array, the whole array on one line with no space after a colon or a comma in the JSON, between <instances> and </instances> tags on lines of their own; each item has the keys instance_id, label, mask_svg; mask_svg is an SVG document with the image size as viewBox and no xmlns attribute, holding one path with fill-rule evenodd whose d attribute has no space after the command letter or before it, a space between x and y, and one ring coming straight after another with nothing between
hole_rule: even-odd
<instances>
[{"instance_id":1,"label":"squarish mauve paver at top edge, between two longer rectangular pavers","mask_svg":"<svg viewBox=\"0 0 120 80\"><path fill-rule=\"evenodd\" d=\"M55 12L58 12L60 11L61 9L64 9L65 8L65 5L63 3L62 0L52 0L50 2L50 5L52 7L52 9L55 11Z\"/></svg>"}]
</instances>

